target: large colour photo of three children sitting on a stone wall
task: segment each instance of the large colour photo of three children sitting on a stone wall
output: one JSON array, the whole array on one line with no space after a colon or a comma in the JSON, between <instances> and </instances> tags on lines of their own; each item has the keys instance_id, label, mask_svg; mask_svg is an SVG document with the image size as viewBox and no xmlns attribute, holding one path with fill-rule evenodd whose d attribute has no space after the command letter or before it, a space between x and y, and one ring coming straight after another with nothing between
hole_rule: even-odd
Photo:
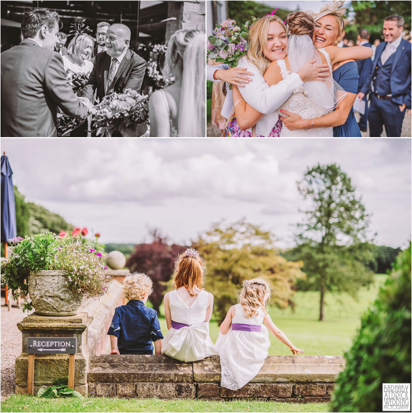
<instances>
[{"instance_id":1,"label":"large colour photo of three children sitting on a stone wall","mask_svg":"<svg viewBox=\"0 0 412 413\"><path fill-rule=\"evenodd\" d=\"M1 144L2 411L407 402L410 139Z\"/></svg>"}]
</instances>

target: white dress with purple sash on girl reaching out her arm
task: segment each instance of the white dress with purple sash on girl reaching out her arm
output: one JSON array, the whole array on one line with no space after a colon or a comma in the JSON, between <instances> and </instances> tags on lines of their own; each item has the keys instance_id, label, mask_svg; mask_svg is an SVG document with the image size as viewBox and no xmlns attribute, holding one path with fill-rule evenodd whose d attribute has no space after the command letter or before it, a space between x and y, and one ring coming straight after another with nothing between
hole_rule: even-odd
<instances>
[{"instance_id":1,"label":"white dress with purple sash on girl reaching out her arm","mask_svg":"<svg viewBox=\"0 0 412 413\"><path fill-rule=\"evenodd\" d=\"M220 385L231 390L240 389L259 373L270 346L268 329L262 324L263 310L259 308L257 316L246 318L240 304L234 307L232 326L226 334L219 332L216 341L222 371ZM232 330L233 324L256 325L260 332Z\"/></svg>"}]
</instances>

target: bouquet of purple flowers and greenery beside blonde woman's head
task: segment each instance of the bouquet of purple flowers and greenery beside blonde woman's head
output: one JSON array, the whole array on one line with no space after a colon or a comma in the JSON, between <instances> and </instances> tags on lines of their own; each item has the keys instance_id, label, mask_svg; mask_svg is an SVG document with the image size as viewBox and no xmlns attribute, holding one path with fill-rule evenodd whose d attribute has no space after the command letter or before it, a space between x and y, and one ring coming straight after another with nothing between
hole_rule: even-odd
<instances>
[{"instance_id":1,"label":"bouquet of purple flowers and greenery beside blonde woman's head","mask_svg":"<svg viewBox=\"0 0 412 413\"><path fill-rule=\"evenodd\" d=\"M238 60L246 54L249 44L249 21L237 26L236 21L230 20L221 26L216 24L213 36L207 42L207 55L216 62L227 63L230 67L237 66Z\"/></svg>"}]
</instances>

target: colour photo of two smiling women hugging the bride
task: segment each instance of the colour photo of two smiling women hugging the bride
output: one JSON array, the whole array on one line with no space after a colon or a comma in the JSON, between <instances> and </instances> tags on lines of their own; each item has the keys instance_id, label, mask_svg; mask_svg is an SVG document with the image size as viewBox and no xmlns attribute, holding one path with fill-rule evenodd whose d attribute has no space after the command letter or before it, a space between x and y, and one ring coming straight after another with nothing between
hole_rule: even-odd
<instances>
[{"instance_id":1,"label":"colour photo of two smiling women hugging the bride","mask_svg":"<svg viewBox=\"0 0 412 413\"><path fill-rule=\"evenodd\" d=\"M410 1L208 1L208 136L410 137Z\"/></svg>"}]
</instances>

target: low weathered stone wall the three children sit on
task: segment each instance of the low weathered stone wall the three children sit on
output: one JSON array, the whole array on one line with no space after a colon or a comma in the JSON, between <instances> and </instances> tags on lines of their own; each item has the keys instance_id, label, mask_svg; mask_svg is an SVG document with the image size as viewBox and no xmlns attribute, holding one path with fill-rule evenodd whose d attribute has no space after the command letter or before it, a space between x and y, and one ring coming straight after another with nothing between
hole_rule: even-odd
<instances>
[{"instance_id":1,"label":"low weathered stone wall the three children sit on","mask_svg":"<svg viewBox=\"0 0 412 413\"><path fill-rule=\"evenodd\" d=\"M98 397L329 402L342 356L269 356L258 375L236 391L220 386L219 356L183 363L167 356L93 355L89 392Z\"/></svg>"}]
</instances>

